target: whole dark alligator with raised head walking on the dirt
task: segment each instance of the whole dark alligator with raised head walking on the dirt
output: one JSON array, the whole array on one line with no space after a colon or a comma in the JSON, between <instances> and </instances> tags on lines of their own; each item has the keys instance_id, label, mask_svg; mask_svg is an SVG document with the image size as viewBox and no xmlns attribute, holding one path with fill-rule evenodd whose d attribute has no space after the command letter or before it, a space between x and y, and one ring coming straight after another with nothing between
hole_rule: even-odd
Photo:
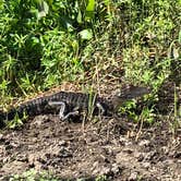
<instances>
[{"instance_id":1,"label":"whole dark alligator with raised head walking on the dirt","mask_svg":"<svg viewBox=\"0 0 181 181\"><path fill-rule=\"evenodd\" d=\"M15 114L19 118L23 118L24 113L34 117L37 114L59 112L61 120L69 120L72 117L80 116L82 112L87 114L88 111L94 116L99 113L102 116L111 116L121 104L148 93L148 88L137 86L130 86L109 98L100 97L96 94L58 92L31 99L8 111L1 111L0 121L13 120Z\"/></svg>"}]
</instances>

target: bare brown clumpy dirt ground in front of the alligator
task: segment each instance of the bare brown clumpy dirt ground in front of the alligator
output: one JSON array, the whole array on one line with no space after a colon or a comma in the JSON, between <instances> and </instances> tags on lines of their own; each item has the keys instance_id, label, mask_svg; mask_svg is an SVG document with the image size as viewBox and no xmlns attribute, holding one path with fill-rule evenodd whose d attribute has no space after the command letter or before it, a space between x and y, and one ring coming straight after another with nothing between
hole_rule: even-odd
<instances>
[{"instance_id":1,"label":"bare brown clumpy dirt ground in front of the alligator","mask_svg":"<svg viewBox=\"0 0 181 181\"><path fill-rule=\"evenodd\" d=\"M123 126L123 123L128 128ZM168 121L149 128L125 118L97 122L62 122L56 116L37 116L19 130L0 133L0 178L24 171L48 171L61 179L181 180L181 130Z\"/></svg>"}]
</instances>

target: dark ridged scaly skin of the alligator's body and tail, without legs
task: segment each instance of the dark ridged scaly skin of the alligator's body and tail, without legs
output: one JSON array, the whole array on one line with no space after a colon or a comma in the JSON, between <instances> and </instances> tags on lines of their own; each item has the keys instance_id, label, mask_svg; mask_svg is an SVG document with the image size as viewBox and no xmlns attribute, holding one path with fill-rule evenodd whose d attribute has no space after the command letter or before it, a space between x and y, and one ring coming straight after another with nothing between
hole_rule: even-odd
<instances>
[{"instance_id":1,"label":"dark ridged scaly skin of the alligator's body and tail, without legs","mask_svg":"<svg viewBox=\"0 0 181 181\"><path fill-rule=\"evenodd\" d=\"M90 96L83 93L73 93L73 92L59 92L49 96L39 97L32 99L29 101L23 102L20 106L10 109L8 112L0 112L0 120L12 120L17 113L20 118L23 117L24 112L27 116L37 116L43 113L52 113L55 112L55 107L49 106L49 101L62 101L67 105L65 113L71 111L73 108L79 108L79 110L88 110L88 104L90 101ZM94 95L93 95L94 97ZM96 104L99 102L104 109L112 110L112 105L107 101L107 99L101 97L95 97L93 107L95 108L95 114L97 112ZM58 108L57 108L58 109Z\"/></svg>"}]
</instances>

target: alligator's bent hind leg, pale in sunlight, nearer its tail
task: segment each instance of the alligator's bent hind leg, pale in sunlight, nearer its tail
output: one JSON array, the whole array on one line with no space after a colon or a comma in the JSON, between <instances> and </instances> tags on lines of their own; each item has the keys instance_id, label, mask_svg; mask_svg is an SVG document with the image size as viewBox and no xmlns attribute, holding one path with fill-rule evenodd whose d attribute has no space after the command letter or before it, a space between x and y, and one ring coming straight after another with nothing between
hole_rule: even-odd
<instances>
[{"instance_id":1,"label":"alligator's bent hind leg, pale in sunlight, nearer its tail","mask_svg":"<svg viewBox=\"0 0 181 181\"><path fill-rule=\"evenodd\" d=\"M50 105L50 106L60 106L59 118L62 121L68 120L70 118L70 116L77 116L79 114L79 110L74 110L72 112L69 112L69 113L64 114L67 105L63 101L49 101L48 105Z\"/></svg>"}]
</instances>

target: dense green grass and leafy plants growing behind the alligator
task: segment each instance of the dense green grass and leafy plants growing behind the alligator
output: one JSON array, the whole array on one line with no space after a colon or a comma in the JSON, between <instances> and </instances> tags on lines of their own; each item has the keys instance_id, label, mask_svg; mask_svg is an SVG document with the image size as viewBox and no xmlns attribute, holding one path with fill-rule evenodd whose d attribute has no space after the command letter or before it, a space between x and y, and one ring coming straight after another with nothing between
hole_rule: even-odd
<instances>
[{"instance_id":1,"label":"dense green grass and leafy plants growing behind the alligator","mask_svg":"<svg viewBox=\"0 0 181 181\"><path fill-rule=\"evenodd\" d=\"M181 86L180 11L168 0L2 0L1 107L63 82L98 94L131 83L153 88L142 112L150 121L161 85Z\"/></svg>"}]
</instances>

